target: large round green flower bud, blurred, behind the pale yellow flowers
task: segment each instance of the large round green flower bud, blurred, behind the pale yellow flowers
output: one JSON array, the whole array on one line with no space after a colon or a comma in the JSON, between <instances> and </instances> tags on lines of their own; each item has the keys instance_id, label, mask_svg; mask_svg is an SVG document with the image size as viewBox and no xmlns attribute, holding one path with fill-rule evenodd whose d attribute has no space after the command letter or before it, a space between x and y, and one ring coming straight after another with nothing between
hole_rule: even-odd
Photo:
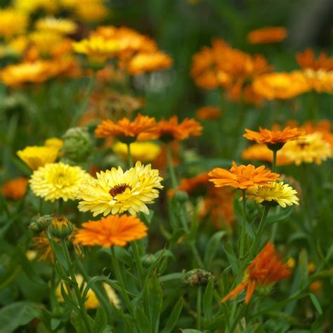
<instances>
[{"instance_id":1,"label":"large round green flower bud, blurred, behind the pale yellow flowers","mask_svg":"<svg viewBox=\"0 0 333 333\"><path fill-rule=\"evenodd\" d=\"M72 162L84 162L91 152L92 142L89 132L84 127L68 129L63 136L65 159Z\"/></svg>"}]
</instances>

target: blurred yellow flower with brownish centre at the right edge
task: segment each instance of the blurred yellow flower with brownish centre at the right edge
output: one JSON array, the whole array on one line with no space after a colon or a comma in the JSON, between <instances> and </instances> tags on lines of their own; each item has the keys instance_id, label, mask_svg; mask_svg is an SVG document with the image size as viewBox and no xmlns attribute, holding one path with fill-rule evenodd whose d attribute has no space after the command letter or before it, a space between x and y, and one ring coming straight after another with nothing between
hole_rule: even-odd
<instances>
[{"instance_id":1,"label":"blurred yellow flower with brownish centre at the right edge","mask_svg":"<svg viewBox=\"0 0 333 333\"><path fill-rule=\"evenodd\" d=\"M287 157L296 165L302 163L322 164L322 161L332 157L332 147L322 138L322 133L315 132L289 141L280 150L280 155Z\"/></svg>"}]
</instances>

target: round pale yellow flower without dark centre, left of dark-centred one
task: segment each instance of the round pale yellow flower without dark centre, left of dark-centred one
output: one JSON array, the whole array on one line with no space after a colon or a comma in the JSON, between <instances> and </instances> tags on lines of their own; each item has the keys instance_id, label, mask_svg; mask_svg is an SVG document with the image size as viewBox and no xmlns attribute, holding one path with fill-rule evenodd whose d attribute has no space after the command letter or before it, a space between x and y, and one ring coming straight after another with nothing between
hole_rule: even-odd
<instances>
[{"instance_id":1,"label":"round pale yellow flower without dark centre, left of dark-centred one","mask_svg":"<svg viewBox=\"0 0 333 333\"><path fill-rule=\"evenodd\" d=\"M30 178L30 188L34 195L54 202L58 199L74 200L81 182L91 178L79 166L49 163L35 170Z\"/></svg>"}]
</instances>

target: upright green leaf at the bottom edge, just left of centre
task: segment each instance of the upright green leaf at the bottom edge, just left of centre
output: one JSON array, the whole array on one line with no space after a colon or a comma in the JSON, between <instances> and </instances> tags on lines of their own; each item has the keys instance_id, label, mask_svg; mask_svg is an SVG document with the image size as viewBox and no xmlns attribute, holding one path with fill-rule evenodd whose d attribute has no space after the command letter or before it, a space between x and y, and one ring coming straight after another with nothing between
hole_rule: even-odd
<instances>
[{"instance_id":1,"label":"upright green leaf at the bottom edge, just left of centre","mask_svg":"<svg viewBox=\"0 0 333 333\"><path fill-rule=\"evenodd\" d=\"M162 310L163 292L157 276L152 275L147 282L148 308L152 332L158 332L159 315Z\"/></svg>"}]
</instances>

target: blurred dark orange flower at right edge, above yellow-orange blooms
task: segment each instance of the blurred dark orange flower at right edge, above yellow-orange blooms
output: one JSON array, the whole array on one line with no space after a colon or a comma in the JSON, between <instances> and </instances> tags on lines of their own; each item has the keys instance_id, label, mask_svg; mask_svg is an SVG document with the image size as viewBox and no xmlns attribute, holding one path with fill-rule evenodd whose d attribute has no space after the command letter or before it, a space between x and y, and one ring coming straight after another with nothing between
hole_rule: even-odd
<instances>
[{"instance_id":1,"label":"blurred dark orange flower at right edge, above yellow-orange blooms","mask_svg":"<svg viewBox=\"0 0 333 333\"><path fill-rule=\"evenodd\" d=\"M325 52L320 52L318 59L315 59L315 53L311 48L303 53L296 53L297 63L302 68L311 68L312 70L333 70L333 57L327 57Z\"/></svg>"}]
</instances>

